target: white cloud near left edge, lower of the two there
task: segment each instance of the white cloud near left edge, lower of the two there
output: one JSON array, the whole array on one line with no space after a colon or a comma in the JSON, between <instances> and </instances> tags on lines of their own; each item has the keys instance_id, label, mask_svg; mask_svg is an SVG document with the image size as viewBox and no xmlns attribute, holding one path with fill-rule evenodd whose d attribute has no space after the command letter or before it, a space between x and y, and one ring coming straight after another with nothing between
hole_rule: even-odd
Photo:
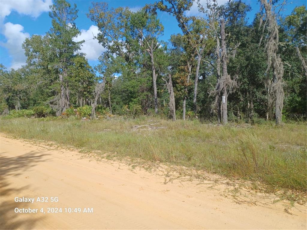
<instances>
[{"instance_id":1,"label":"white cloud near left edge, lower of the two there","mask_svg":"<svg viewBox=\"0 0 307 230\"><path fill-rule=\"evenodd\" d=\"M18 69L25 64L26 57L21 45L30 34L23 32L22 25L7 22L3 27L3 35L6 42L1 42L0 45L7 48L10 55L14 54L11 56L11 68Z\"/></svg>"}]
</instances>

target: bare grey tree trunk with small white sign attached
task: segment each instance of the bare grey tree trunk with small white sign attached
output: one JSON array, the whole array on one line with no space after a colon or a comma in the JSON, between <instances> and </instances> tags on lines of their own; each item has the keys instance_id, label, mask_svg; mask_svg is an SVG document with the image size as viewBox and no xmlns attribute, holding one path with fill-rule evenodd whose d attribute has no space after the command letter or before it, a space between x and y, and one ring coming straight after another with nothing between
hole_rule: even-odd
<instances>
[{"instance_id":1,"label":"bare grey tree trunk with small white sign attached","mask_svg":"<svg viewBox=\"0 0 307 230\"><path fill-rule=\"evenodd\" d=\"M221 44L222 44L222 64L223 64L223 80L228 78L227 73L227 53L226 53L226 41L225 41L225 20L221 20ZM223 125L226 125L228 122L227 118L227 87L224 86L222 94L222 117Z\"/></svg>"}]
</instances>

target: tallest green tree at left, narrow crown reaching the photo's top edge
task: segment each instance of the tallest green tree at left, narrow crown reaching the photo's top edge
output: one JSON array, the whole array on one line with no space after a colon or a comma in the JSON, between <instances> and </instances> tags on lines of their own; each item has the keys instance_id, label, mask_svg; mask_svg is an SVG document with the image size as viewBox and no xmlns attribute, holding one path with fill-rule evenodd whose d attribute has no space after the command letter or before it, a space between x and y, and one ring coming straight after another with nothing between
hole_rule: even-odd
<instances>
[{"instance_id":1,"label":"tallest green tree at left, narrow crown reaching the photo's top edge","mask_svg":"<svg viewBox=\"0 0 307 230\"><path fill-rule=\"evenodd\" d=\"M56 0L50 6L51 12L49 12L49 17L52 18L52 28L50 28L47 36L49 37L49 45L54 58L53 63L50 63L50 65L56 68L60 82L59 101L56 105L56 114L58 116L70 106L68 67L72 65L72 58L84 42L75 42L73 40L74 37L80 34L80 30L76 28L75 24L75 20L78 17L76 7L76 4L74 4L74 7L71 8L71 5L65 0Z\"/></svg>"}]
</instances>

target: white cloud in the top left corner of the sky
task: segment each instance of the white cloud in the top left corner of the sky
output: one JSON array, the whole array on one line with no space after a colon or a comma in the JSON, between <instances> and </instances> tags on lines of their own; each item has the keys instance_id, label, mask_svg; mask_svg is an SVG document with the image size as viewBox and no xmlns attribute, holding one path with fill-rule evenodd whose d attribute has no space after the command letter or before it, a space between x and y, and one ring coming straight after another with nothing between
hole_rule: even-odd
<instances>
[{"instance_id":1,"label":"white cloud in the top left corner of the sky","mask_svg":"<svg viewBox=\"0 0 307 230\"><path fill-rule=\"evenodd\" d=\"M52 0L1 0L0 18L3 20L12 11L32 17L38 17L41 13L49 11Z\"/></svg>"}]
</instances>

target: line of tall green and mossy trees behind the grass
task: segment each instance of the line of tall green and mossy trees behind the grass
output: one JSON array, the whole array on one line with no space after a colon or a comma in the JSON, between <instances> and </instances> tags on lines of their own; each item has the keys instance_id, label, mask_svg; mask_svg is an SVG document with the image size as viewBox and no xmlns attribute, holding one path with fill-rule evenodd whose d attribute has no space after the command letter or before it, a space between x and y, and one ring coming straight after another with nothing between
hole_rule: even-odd
<instances>
[{"instance_id":1,"label":"line of tall green and mossy trees behind the grass","mask_svg":"<svg viewBox=\"0 0 307 230\"><path fill-rule=\"evenodd\" d=\"M194 2L203 16L188 16ZM86 41L74 41L76 5L57 0L50 30L23 44L27 64L10 71L1 65L0 112L45 107L63 116L85 106L92 118L100 109L223 124L305 117L306 6L280 17L286 2L259 2L252 23L251 7L239 0L161 0L138 12L93 3L87 17L106 51L92 67L80 52ZM182 33L161 40L159 11L173 15Z\"/></svg>"}]
</instances>

